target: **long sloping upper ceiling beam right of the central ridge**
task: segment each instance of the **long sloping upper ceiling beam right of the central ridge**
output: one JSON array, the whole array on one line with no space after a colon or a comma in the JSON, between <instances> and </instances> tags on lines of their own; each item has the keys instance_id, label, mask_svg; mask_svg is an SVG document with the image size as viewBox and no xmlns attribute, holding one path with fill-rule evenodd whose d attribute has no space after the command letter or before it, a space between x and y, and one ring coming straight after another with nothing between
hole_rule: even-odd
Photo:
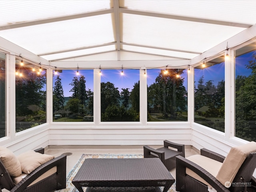
<instances>
[{"instance_id":1,"label":"long sloping upper ceiling beam right of the central ridge","mask_svg":"<svg viewBox=\"0 0 256 192\"><path fill-rule=\"evenodd\" d=\"M126 9L126 8L119 8L119 11L121 13L127 13L127 14L136 14L136 15L168 18L168 19L175 19L175 20L184 20L184 21L209 23L209 24L216 24L216 25L233 26L233 27L249 28L249 27L252 26L251 24L244 24L244 23L237 23L237 22L227 22L227 21L220 21L220 20L197 18L197 17L186 17L186 16L162 14L162 13L155 13L155 12L129 10L129 9Z\"/></svg>"}]
</instances>

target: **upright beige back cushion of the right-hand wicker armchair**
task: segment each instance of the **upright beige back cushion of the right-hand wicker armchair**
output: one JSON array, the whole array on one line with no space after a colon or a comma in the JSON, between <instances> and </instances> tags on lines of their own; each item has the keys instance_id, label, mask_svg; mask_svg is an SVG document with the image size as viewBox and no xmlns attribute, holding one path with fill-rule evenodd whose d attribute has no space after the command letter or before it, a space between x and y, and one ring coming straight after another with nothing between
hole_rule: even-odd
<instances>
[{"instance_id":1,"label":"upright beige back cushion of the right-hand wicker armchair","mask_svg":"<svg viewBox=\"0 0 256 192\"><path fill-rule=\"evenodd\" d=\"M216 176L216 179L225 187L230 187L227 183L232 183L240 166L243 164L250 152L256 152L256 142L254 141L231 148Z\"/></svg>"}]
</instances>

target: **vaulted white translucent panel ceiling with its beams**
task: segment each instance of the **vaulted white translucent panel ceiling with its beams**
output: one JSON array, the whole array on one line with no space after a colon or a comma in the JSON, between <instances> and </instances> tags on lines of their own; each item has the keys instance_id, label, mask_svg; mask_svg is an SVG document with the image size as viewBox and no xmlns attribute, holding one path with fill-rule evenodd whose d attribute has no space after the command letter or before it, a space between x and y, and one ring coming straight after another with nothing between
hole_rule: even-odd
<instances>
[{"instance_id":1,"label":"vaulted white translucent panel ceiling with its beams","mask_svg":"<svg viewBox=\"0 0 256 192\"><path fill-rule=\"evenodd\" d=\"M0 37L49 61L189 60L256 24L255 7L255 0L1 0Z\"/></svg>"}]
</instances>

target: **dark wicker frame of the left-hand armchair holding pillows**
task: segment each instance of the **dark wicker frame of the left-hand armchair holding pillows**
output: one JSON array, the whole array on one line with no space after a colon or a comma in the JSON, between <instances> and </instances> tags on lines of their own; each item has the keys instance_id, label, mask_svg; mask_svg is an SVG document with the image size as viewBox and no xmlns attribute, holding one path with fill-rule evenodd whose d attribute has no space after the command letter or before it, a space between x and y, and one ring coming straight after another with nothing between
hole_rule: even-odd
<instances>
[{"instance_id":1,"label":"dark wicker frame of the left-hand armchair holding pillows","mask_svg":"<svg viewBox=\"0 0 256 192\"><path fill-rule=\"evenodd\" d=\"M44 154L44 148L35 151ZM56 173L29 186L34 180L55 166L57 167ZM42 164L16 185L0 161L0 191L4 188L10 192L50 192L66 188L66 155L58 156Z\"/></svg>"}]
</instances>

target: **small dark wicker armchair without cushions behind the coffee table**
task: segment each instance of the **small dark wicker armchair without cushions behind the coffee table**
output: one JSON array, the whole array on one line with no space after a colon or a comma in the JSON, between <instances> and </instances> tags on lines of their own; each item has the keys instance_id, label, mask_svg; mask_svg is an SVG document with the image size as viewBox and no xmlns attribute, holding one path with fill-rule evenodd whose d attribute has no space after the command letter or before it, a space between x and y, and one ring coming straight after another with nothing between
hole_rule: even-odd
<instances>
[{"instance_id":1,"label":"small dark wicker armchair without cushions behind the coffee table","mask_svg":"<svg viewBox=\"0 0 256 192\"><path fill-rule=\"evenodd\" d=\"M176 150L168 147L176 148ZM149 146L144 146L144 158L160 158L168 170L176 166L176 156L180 155L185 157L185 146L164 140L164 147L154 149Z\"/></svg>"}]
</instances>

